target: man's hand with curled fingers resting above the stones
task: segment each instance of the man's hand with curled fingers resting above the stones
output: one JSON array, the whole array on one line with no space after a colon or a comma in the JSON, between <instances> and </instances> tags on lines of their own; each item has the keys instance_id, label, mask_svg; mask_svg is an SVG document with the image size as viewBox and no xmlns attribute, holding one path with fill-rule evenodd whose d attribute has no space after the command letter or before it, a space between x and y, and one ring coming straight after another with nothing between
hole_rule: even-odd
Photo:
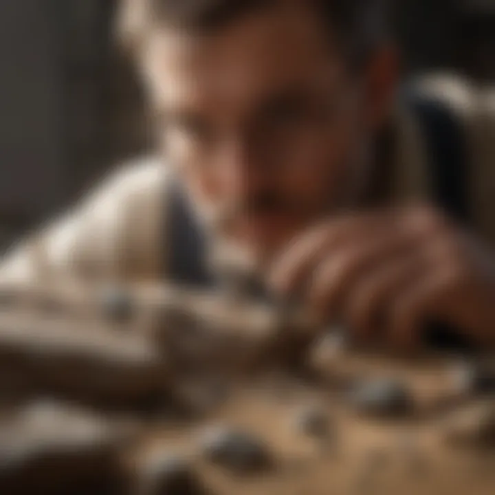
<instances>
[{"instance_id":1,"label":"man's hand with curled fingers resting above the stones","mask_svg":"<svg viewBox=\"0 0 495 495\"><path fill-rule=\"evenodd\" d=\"M495 342L495 256L432 208L323 222L289 245L270 278L360 340L412 347L434 320Z\"/></svg>"}]
</instances>

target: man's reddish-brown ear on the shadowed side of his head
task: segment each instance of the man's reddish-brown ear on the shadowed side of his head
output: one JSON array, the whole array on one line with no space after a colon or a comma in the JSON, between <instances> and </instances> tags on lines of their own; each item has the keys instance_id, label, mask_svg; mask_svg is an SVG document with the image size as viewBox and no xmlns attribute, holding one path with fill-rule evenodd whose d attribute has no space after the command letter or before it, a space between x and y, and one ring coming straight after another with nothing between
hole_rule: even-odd
<instances>
[{"instance_id":1,"label":"man's reddish-brown ear on the shadowed side of his head","mask_svg":"<svg viewBox=\"0 0 495 495\"><path fill-rule=\"evenodd\" d=\"M365 67L366 120L371 129L380 128L391 114L399 72L399 53L388 44L380 47Z\"/></svg>"}]
</instances>

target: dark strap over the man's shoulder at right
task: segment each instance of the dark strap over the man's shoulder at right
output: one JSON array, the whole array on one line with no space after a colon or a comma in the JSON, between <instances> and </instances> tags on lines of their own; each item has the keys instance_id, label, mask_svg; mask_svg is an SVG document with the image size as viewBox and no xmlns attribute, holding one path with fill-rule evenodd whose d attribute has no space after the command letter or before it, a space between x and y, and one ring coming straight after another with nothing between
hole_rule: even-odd
<instances>
[{"instance_id":1,"label":"dark strap over the man's shoulder at right","mask_svg":"<svg viewBox=\"0 0 495 495\"><path fill-rule=\"evenodd\" d=\"M434 98L410 92L408 100L426 142L432 201L458 221L469 220L465 133L452 109Z\"/></svg>"}]
</instances>

